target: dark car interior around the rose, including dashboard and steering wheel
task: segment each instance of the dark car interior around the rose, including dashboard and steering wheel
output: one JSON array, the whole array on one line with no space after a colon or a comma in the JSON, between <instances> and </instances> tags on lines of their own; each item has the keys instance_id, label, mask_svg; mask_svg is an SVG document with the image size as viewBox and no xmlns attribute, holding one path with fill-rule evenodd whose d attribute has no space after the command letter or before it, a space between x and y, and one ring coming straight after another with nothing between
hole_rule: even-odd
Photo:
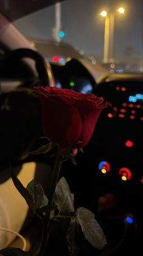
<instances>
[{"instance_id":1,"label":"dark car interior around the rose, including dashboard and steering wheel","mask_svg":"<svg viewBox=\"0 0 143 256\"><path fill-rule=\"evenodd\" d=\"M55 2L49 1L49 6ZM16 1L13 1L15 5ZM46 1L41 1L40 7L35 4L35 10L45 6L48 6ZM0 249L19 247L26 241L21 248L38 256L41 224L16 190L10 169L23 186L32 179L42 184L48 197L55 149L39 155L29 155L28 152L46 142L41 138L40 102L30 89L50 85L94 94L111 103L100 114L88 145L75 156L77 165L68 160L61 167L60 178L64 176L68 181L75 208L85 207L94 213L107 240L105 247L97 250L80 234L77 256L142 255L142 73L110 73L98 64L72 56L62 64L49 62L13 24L13 20L21 17L21 12L16 9L14 15L10 8L12 6L5 11L2 1ZM27 13L35 10L29 9ZM7 230L16 233L7 233ZM49 238L47 256L70 255L64 235L62 225L55 227Z\"/></svg>"}]
</instances>

